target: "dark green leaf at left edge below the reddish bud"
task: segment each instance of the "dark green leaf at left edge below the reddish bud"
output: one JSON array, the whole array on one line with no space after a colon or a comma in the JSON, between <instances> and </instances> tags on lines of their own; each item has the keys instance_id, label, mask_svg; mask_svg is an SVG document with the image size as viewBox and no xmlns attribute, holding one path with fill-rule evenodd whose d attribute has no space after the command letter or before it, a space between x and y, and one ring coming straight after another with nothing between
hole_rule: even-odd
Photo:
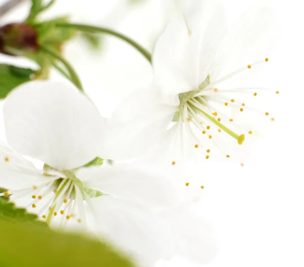
<instances>
[{"instance_id":1,"label":"dark green leaf at left edge below the reddish bud","mask_svg":"<svg viewBox=\"0 0 304 267\"><path fill-rule=\"evenodd\" d=\"M0 99L5 98L18 85L30 81L34 73L31 69L0 64Z\"/></svg>"}]
</instances>

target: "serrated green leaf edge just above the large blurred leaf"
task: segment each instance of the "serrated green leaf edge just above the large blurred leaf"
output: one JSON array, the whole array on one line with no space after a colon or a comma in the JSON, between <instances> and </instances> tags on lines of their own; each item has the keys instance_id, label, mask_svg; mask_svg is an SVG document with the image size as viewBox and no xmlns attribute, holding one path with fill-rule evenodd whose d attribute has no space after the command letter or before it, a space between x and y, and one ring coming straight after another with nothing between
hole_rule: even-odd
<instances>
[{"instance_id":1,"label":"serrated green leaf edge just above the large blurred leaf","mask_svg":"<svg viewBox=\"0 0 304 267\"><path fill-rule=\"evenodd\" d=\"M6 202L5 200L0 201L0 220L48 227L48 224L38 220L37 215L28 213L25 209L16 208L14 203Z\"/></svg>"}]
</instances>

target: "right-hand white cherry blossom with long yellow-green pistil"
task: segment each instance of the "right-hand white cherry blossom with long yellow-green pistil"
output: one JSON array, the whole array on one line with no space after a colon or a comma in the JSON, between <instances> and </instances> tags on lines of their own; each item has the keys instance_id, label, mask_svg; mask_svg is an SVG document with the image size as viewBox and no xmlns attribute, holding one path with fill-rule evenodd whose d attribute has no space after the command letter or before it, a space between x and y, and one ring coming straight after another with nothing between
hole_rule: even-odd
<instances>
[{"instance_id":1,"label":"right-hand white cherry blossom with long yellow-green pistil","mask_svg":"<svg viewBox=\"0 0 304 267\"><path fill-rule=\"evenodd\" d=\"M168 153L172 165L196 154L231 160L275 120L279 92L265 88L262 75L277 36L275 14L258 6L226 27L217 1L180 7L155 46L154 82L132 93L112 119L134 125L132 136L124 133L125 151Z\"/></svg>"}]
</instances>

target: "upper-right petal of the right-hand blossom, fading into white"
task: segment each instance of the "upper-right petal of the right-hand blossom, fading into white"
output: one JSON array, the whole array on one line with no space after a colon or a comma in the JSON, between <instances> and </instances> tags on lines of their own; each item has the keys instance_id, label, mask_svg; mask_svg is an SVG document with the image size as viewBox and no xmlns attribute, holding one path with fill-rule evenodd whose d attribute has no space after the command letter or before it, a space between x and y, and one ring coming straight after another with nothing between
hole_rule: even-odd
<instances>
[{"instance_id":1,"label":"upper-right petal of the right-hand blossom, fading into white","mask_svg":"<svg viewBox=\"0 0 304 267\"><path fill-rule=\"evenodd\" d=\"M269 57L278 30L274 8L258 6L245 12L228 27L218 47L209 68L211 81Z\"/></svg>"}]
</instances>

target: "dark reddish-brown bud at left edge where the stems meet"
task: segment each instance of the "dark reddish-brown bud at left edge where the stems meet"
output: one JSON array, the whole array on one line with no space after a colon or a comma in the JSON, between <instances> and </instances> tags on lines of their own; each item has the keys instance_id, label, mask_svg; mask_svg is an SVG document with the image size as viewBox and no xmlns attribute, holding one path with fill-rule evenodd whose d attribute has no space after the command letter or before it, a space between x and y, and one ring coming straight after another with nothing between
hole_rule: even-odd
<instances>
[{"instance_id":1,"label":"dark reddish-brown bud at left edge where the stems meet","mask_svg":"<svg viewBox=\"0 0 304 267\"><path fill-rule=\"evenodd\" d=\"M39 49L36 30L24 23L12 23L0 27L0 53L23 55Z\"/></svg>"}]
</instances>

